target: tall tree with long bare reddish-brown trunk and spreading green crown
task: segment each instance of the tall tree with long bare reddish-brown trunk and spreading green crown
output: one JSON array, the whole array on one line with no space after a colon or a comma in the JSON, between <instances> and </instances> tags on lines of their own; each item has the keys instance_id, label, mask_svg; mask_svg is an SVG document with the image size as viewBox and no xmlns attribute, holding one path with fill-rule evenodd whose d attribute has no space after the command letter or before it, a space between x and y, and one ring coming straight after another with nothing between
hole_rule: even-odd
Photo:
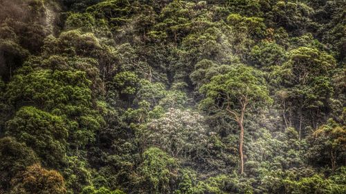
<instances>
[{"instance_id":1,"label":"tall tree with long bare reddish-brown trunk and spreading green crown","mask_svg":"<svg viewBox=\"0 0 346 194\"><path fill-rule=\"evenodd\" d=\"M201 87L201 93L206 94L201 108L224 110L239 125L240 171L243 174L245 113L272 101L261 73L254 68L238 65L226 74L212 77L210 83Z\"/></svg>"}]
</instances>

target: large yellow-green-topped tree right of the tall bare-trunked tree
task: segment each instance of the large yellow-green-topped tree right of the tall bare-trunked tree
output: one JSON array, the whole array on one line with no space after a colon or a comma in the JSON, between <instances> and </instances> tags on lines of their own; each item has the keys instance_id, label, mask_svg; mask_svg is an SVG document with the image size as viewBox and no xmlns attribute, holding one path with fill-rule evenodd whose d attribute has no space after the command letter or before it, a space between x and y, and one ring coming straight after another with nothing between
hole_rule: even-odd
<instances>
[{"instance_id":1,"label":"large yellow-green-topped tree right of the tall bare-trunked tree","mask_svg":"<svg viewBox=\"0 0 346 194\"><path fill-rule=\"evenodd\" d=\"M287 101L291 104L299 104L292 107L298 112L294 119L300 121L310 119L312 121L310 124L316 127L312 118L319 118L321 111L327 110L329 98L334 93L329 77L335 67L334 57L327 52L307 47L291 50L289 61L277 72L280 74L282 86L289 91ZM311 111L309 114L311 117L303 117L304 110Z\"/></svg>"}]
</instances>

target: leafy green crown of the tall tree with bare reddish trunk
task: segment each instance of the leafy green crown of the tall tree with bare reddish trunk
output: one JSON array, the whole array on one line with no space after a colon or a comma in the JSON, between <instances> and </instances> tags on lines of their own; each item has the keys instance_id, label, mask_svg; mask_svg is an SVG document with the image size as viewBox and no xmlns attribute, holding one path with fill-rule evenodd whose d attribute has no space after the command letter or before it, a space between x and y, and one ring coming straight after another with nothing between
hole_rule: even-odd
<instances>
[{"instance_id":1,"label":"leafy green crown of the tall tree with bare reddish trunk","mask_svg":"<svg viewBox=\"0 0 346 194\"><path fill-rule=\"evenodd\" d=\"M212 77L210 83L202 86L200 91L206 94L200 107L203 110L208 108L209 113L216 111L215 108L226 109L227 106L239 110L245 101L248 106L272 101L261 73L244 65L235 66L224 75Z\"/></svg>"}]
</instances>

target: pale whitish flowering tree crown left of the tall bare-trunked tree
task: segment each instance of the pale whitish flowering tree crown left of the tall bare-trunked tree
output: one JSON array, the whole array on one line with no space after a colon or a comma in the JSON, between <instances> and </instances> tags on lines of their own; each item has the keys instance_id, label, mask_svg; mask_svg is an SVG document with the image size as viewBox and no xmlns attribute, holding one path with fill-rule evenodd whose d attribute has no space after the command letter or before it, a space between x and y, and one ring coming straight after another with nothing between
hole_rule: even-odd
<instances>
[{"instance_id":1,"label":"pale whitish flowering tree crown left of the tall bare-trunked tree","mask_svg":"<svg viewBox=\"0 0 346 194\"><path fill-rule=\"evenodd\" d=\"M206 147L208 136L204 118L192 110L170 108L165 115L147 124L143 139L173 156L194 157Z\"/></svg>"}]
</instances>

